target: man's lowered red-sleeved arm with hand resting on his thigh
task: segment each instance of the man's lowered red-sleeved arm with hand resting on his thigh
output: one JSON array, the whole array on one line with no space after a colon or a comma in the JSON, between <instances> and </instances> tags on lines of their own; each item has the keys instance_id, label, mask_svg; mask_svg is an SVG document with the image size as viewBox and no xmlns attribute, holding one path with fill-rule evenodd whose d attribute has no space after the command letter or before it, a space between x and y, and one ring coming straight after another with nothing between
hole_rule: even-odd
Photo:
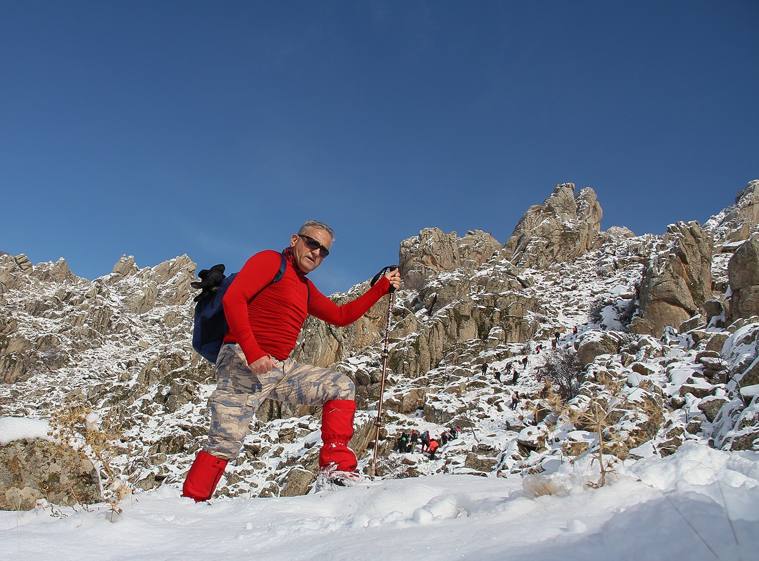
<instances>
[{"instance_id":1,"label":"man's lowered red-sleeved arm with hand resting on his thigh","mask_svg":"<svg viewBox=\"0 0 759 561\"><path fill-rule=\"evenodd\" d=\"M257 364L257 361L263 357L271 361L269 355L258 346L253 330L250 328L247 306L250 300L253 300L254 296L272 281L281 263L282 257L278 252L257 253L247 260L235 280L229 285L222 300L231 338L240 345L249 365ZM259 364L257 366L263 367ZM262 374L271 368L254 373Z\"/></svg>"}]
</instances>

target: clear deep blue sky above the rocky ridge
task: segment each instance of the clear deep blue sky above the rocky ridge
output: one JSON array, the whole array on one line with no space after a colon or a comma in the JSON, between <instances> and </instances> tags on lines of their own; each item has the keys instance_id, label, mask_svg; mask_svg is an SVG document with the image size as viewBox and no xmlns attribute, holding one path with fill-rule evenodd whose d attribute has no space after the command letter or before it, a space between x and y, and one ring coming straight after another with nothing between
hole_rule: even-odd
<instances>
[{"instance_id":1,"label":"clear deep blue sky above the rocky ridge","mask_svg":"<svg viewBox=\"0 0 759 561\"><path fill-rule=\"evenodd\" d=\"M238 270L303 220L347 290L559 182L662 233L759 177L759 2L2 2L0 250Z\"/></svg>"}]
</instances>

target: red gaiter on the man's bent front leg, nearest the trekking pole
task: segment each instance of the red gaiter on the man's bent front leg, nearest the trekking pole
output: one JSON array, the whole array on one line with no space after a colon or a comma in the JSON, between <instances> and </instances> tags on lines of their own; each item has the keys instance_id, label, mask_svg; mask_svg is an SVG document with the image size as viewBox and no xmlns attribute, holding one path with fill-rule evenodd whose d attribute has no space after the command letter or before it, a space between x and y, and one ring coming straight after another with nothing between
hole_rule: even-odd
<instances>
[{"instance_id":1,"label":"red gaiter on the man's bent front leg, nearest the trekking pole","mask_svg":"<svg viewBox=\"0 0 759 561\"><path fill-rule=\"evenodd\" d=\"M332 399L323 407L322 446L319 453L320 469L329 471L356 471L358 461L351 448L353 416L356 402L352 399Z\"/></svg>"}]
</instances>

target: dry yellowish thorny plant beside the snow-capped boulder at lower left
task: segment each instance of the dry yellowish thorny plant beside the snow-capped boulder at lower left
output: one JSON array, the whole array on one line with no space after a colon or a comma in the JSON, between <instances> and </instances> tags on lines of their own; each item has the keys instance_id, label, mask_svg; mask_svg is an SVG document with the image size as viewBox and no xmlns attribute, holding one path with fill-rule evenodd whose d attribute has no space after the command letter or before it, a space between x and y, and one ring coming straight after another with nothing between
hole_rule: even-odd
<instances>
[{"instance_id":1,"label":"dry yellowish thorny plant beside the snow-capped boulder at lower left","mask_svg":"<svg viewBox=\"0 0 759 561\"><path fill-rule=\"evenodd\" d=\"M109 520L114 522L121 517L121 502L131 496L133 485L129 478L129 457L131 448L120 448L119 439L124 433L120 421L112 414L99 417L86 404L66 404L52 414L51 436L54 446L61 452L71 445L78 460L85 458L98 467L102 481L102 499L106 502ZM112 465L116 455L126 454L127 461L124 469ZM66 455L61 454L63 457ZM71 466L69 466L71 467ZM82 497L72 493L83 509L88 509Z\"/></svg>"}]
</instances>

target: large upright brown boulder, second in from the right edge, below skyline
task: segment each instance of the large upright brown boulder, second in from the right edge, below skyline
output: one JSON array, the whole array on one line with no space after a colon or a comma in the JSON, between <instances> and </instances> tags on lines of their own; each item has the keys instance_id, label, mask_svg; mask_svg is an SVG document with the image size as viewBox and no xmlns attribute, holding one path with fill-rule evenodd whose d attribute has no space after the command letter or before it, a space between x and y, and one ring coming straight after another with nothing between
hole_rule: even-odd
<instances>
[{"instance_id":1,"label":"large upright brown boulder, second in from the right edge, below skyline","mask_svg":"<svg viewBox=\"0 0 759 561\"><path fill-rule=\"evenodd\" d=\"M659 337L667 326L679 328L706 314L711 292L712 249L698 222L670 224L663 248L652 255L640 287L640 315L630 331Z\"/></svg>"}]
</instances>

